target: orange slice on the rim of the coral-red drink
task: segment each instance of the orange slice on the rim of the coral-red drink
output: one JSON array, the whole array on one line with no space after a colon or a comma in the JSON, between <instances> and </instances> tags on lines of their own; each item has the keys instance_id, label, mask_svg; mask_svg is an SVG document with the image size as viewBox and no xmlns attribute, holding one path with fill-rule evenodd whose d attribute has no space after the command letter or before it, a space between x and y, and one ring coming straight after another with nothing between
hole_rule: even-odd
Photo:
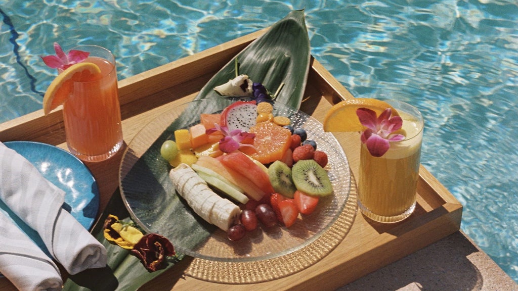
<instances>
[{"instance_id":1,"label":"orange slice on the rim of the coral-red drink","mask_svg":"<svg viewBox=\"0 0 518 291\"><path fill-rule=\"evenodd\" d=\"M89 82L100 78L100 69L93 63L71 65L52 80L43 97L43 111L48 114L62 105L74 93L74 82Z\"/></svg>"}]
</instances>

